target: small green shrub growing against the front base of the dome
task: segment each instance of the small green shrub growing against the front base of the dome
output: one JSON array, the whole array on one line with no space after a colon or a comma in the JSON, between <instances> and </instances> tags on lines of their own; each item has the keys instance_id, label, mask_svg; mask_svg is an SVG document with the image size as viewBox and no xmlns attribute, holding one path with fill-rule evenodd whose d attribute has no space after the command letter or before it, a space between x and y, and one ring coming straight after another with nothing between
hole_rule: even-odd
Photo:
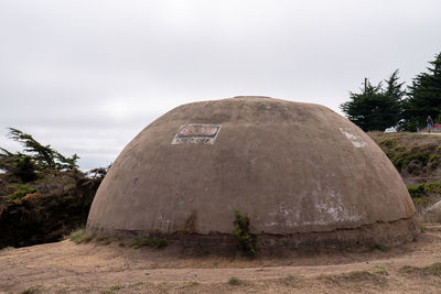
<instances>
[{"instance_id":1,"label":"small green shrub growing against the front base of the dome","mask_svg":"<svg viewBox=\"0 0 441 294\"><path fill-rule=\"evenodd\" d=\"M256 254L257 237L249 232L248 215L245 213L243 216L239 209L234 209L234 211L235 220L233 221L233 235L239 241L240 249L248 255L254 257Z\"/></svg>"}]
</instances>

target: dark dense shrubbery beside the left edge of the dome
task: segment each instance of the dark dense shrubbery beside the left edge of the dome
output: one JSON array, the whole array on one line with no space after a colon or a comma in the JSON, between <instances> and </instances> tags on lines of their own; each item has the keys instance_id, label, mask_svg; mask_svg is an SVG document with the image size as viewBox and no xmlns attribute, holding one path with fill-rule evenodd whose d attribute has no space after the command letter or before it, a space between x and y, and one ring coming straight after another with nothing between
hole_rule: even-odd
<instances>
[{"instance_id":1,"label":"dark dense shrubbery beside the left edge of the dome","mask_svg":"<svg viewBox=\"0 0 441 294\"><path fill-rule=\"evenodd\" d=\"M15 157L3 160L0 157L0 165L11 163ZM11 174L12 164L9 167L7 173L0 174L1 193L10 195L10 195L10 200L32 193L23 190L20 185L15 188L14 184L23 185L23 182ZM40 170L40 166L36 170L39 177L25 186L37 188L37 193L14 203L7 203L8 196L0 198L0 248L58 241L72 230L85 226L96 190L106 174L105 168L88 174L78 170Z\"/></svg>"}]
</instances>

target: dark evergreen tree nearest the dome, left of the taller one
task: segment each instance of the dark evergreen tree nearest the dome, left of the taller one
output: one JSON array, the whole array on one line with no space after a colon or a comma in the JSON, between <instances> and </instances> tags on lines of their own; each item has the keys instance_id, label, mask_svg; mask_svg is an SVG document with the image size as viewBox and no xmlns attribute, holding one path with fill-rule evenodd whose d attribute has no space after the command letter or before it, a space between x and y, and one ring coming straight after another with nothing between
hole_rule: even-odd
<instances>
[{"instance_id":1,"label":"dark evergreen tree nearest the dome, left of the taller one","mask_svg":"<svg viewBox=\"0 0 441 294\"><path fill-rule=\"evenodd\" d=\"M385 130L396 126L402 112L404 83L398 83L398 69L381 83L373 86L366 78L362 92L349 92L349 101L341 105L346 117L364 131Z\"/></svg>"}]
</instances>

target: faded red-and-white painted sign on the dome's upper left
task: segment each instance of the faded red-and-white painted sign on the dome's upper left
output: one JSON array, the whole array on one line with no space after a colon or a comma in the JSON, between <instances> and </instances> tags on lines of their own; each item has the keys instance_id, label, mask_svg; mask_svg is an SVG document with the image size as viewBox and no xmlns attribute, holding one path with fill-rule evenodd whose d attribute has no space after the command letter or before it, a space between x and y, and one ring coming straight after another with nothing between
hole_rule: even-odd
<instances>
[{"instance_id":1,"label":"faded red-and-white painted sign on the dome's upper left","mask_svg":"<svg viewBox=\"0 0 441 294\"><path fill-rule=\"evenodd\" d=\"M220 131L220 124L184 124L181 126L172 144L213 144Z\"/></svg>"}]
</instances>

